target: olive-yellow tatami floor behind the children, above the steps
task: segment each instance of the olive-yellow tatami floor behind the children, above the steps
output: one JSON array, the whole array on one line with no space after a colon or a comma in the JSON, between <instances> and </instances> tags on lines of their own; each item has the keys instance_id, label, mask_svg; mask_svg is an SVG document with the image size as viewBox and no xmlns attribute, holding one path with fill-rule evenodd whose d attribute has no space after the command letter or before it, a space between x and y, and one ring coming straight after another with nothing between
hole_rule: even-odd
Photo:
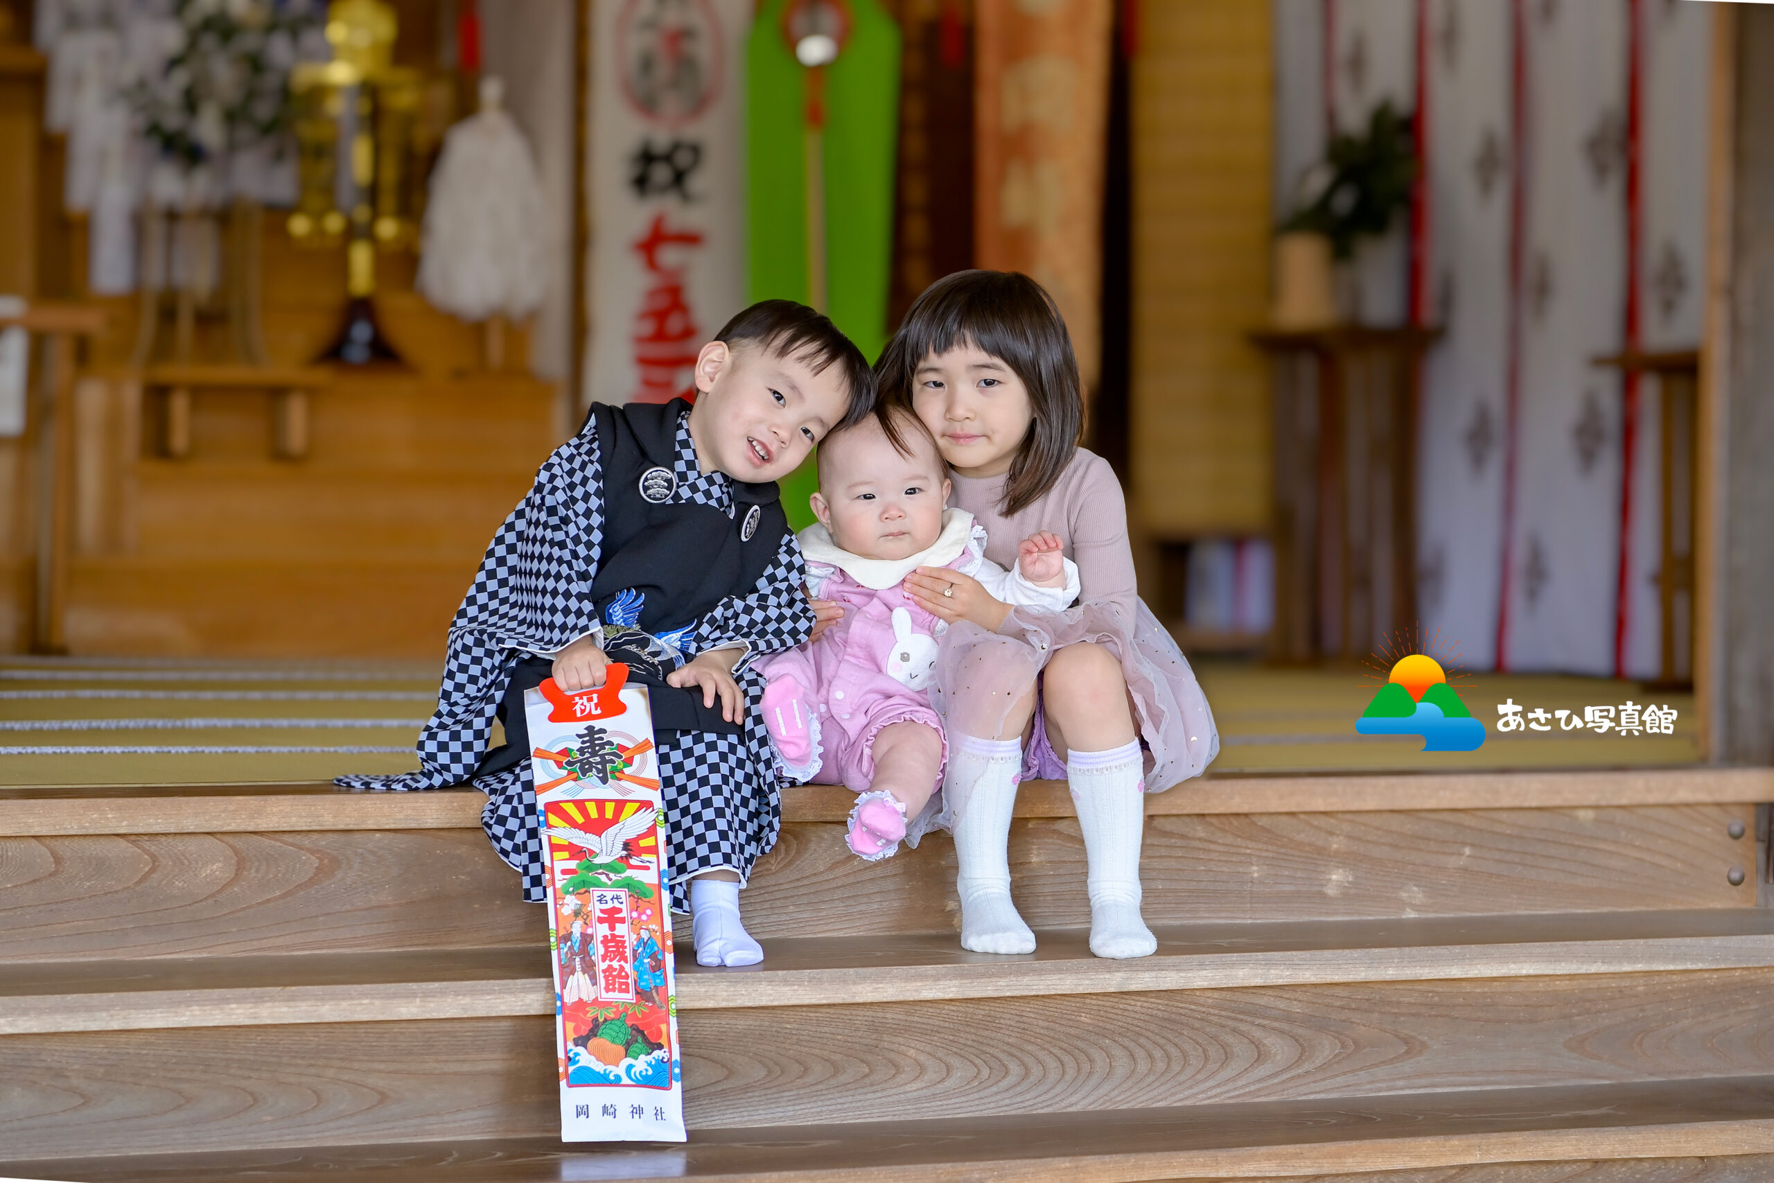
<instances>
[{"instance_id":1,"label":"olive-yellow tatami floor behind the children, above the steps","mask_svg":"<svg viewBox=\"0 0 1774 1183\"><path fill-rule=\"evenodd\" d=\"M1476 752L1423 752L1410 736L1362 736L1377 681L1357 670L1197 663L1221 733L1208 777L1261 773L1668 768L1694 764L1692 695L1565 676L1458 679L1485 720ZM1582 713L1655 702L1673 736L1590 729L1497 731L1497 704ZM404 772L436 702L424 663L0 658L0 786L321 780ZM1556 727L1556 725L1554 725Z\"/></svg>"}]
</instances>

